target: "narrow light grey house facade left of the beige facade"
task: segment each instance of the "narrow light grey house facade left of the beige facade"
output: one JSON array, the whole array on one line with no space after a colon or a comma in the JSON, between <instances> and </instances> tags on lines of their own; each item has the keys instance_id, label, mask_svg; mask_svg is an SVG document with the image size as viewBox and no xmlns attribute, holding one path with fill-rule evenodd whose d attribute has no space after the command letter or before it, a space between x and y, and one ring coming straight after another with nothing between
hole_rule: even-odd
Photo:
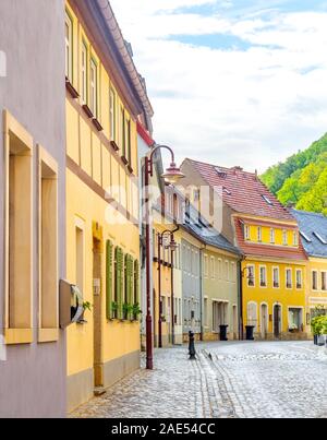
<instances>
[{"instance_id":1,"label":"narrow light grey house facade left of the beige facade","mask_svg":"<svg viewBox=\"0 0 327 440\"><path fill-rule=\"evenodd\" d=\"M184 235L181 241L183 334L201 333L201 248L199 242Z\"/></svg>"}]
</instances>

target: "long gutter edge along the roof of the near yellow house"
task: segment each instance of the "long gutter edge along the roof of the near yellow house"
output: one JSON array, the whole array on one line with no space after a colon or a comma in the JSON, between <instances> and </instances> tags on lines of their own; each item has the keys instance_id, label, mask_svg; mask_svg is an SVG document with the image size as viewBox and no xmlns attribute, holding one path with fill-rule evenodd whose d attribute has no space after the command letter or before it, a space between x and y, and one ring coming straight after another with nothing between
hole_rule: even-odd
<instances>
[{"instance_id":1,"label":"long gutter edge along the roof of the near yellow house","mask_svg":"<svg viewBox=\"0 0 327 440\"><path fill-rule=\"evenodd\" d=\"M153 106L147 96L145 85L144 85L143 80L141 79L140 73L137 72L136 67L134 64L134 61L126 48L125 40L124 40L121 29L118 25L118 22L116 20L116 16L113 14L109 0L95 0L95 1L97 2L98 8L101 11L102 17L105 19L105 21L108 25L108 28L113 37L116 47L117 47L120 56L122 57L124 67L126 68L128 72L129 72L129 75L138 94L138 97L143 104L143 107L144 107L146 114L149 117L153 117L154 109L153 109Z\"/></svg>"}]
</instances>

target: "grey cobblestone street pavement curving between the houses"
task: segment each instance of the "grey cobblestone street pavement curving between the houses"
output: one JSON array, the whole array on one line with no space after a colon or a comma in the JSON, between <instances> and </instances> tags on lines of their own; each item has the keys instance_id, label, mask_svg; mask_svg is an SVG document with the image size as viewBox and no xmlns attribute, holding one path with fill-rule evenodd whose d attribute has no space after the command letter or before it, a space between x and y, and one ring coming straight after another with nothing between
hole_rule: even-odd
<instances>
[{"instance_id":1,"label":"grey cobblestone street pavement curving between the houses","mask_svg":"<svg viewBox=\"0 0 327 440\"><path fill-rule=\"evenodd\" d=\"M327 418L327 356L307 342L230 342L155 352L72 417Z\"/></svg>"}]
</instances>

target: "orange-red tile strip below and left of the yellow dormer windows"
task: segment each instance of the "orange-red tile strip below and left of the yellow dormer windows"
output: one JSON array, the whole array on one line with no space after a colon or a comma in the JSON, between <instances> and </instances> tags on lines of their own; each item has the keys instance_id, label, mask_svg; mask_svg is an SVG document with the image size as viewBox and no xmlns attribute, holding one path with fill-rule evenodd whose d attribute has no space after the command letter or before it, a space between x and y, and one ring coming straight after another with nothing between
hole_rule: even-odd
<instances>
[{"instance_id":1,"label":"orange-red tile strip below and left of the yellow dormer windows","mask_svg":"<svg viewBox=\"0 0 327 440\"><path fill-rule=\"evenodd\" d=\"M268 257L287 260L303 261L306 260L306 254L300 241L299 248L281 247L272 245L252 243L244 240L243 230L241 226L242 218L234 218L235 237L239 248L246 255Z\"/></svg>"}]
</instances>

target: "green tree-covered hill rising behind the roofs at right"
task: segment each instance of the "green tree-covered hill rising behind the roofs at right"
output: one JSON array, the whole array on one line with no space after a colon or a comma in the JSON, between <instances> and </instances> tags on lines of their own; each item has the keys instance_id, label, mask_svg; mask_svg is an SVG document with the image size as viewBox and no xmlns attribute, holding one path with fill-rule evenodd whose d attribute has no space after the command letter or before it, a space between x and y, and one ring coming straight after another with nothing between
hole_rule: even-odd
<instances>
[{"instance_id":1,"label":"green tree-covered hill rising behind the roofs at right","mask_svg":"<svg viewBox=\"0 0 327 440\"><path fill-rule=\"evenodd\" d=\"M327 215L327 133L261 178L284 205Z\"/></svg>"}]
</instances>

